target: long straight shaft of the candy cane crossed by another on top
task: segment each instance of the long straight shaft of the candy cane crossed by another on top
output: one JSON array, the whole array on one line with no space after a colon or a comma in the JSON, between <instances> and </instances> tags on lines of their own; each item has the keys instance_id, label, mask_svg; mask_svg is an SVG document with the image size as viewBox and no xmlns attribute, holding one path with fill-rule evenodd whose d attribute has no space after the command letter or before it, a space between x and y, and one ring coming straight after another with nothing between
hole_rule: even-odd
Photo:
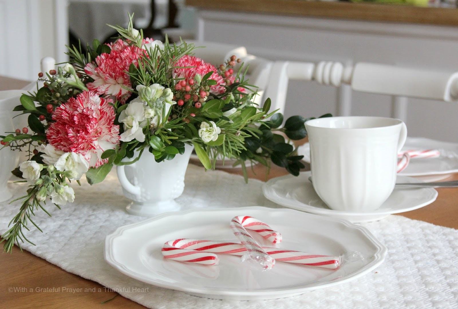
<instances>
[{"instance_id":1,"label":"long straight shaft of the candy cane crossed by another on top","mask_svg":"<svg viewBox=\"0 0 458 309\"><path fill-rule=\"evenodd\" d=\"M241 256L244 255L247 250L243 244L218 242L212 240L175 239L168 241L166 244L173 244L173 246L177 249L188 250L189 252L196 252L201 254L207 253L208 256L213 256L214 254ZM342 256L313 255L306 252L270 247L262 247L262 249L265 250L267 255L272 256L275 260L287 263L337 269L342 262ZM164 256L166 258L175 260L175 258L171 257L170 255Z\"/></svg>"}]
</instances>

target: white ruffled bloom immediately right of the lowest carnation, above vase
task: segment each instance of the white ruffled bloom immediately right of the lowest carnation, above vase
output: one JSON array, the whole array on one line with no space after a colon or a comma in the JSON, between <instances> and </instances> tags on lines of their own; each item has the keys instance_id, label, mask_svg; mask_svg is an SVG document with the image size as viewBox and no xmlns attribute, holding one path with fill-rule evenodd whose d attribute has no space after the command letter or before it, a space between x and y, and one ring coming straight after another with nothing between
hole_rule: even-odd
<instances>
[{"instance_id":1,"label":"white ruffled bloom immediately right of the lowest carnation, above vase","mask_svg":"<svg viewBox=\"0 0 458 309\"><path fill-rule=\"evenodd\" d=\"M143 134L143 127L146 125L145 108L142 102L129 103L119 115L119 122L124 124L124 132L120 135L121 141L137 141L144 142L145 135Z\"/></svg>"}]
</instances>

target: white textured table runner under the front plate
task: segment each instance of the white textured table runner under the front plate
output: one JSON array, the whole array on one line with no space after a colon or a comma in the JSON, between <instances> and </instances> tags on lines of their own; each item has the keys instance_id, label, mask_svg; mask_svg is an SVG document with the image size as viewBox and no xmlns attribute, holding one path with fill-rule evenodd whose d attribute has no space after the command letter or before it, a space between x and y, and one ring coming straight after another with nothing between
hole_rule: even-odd
<instances>
[{"instance_id":1,"label":"white textured table runner under the front plate","mask_svg":"<svg viewBox=\"0 0 458 309\"><path fill-rule=\"evenodd\" d=\"M158 179L158 181L160 181ZM9 184L20 196L24 184ZM120 291L126 298L154 309L242 308L458 308L458 230L391 215L382 221L363 223L388 248L381 266L357 280L319 289L299 296L273 300L231 301L199 298L186 293L154 287L131 279L104 260L105 236L120 226L139 222L125 212L128 200L122 195L115 173L94 186L82 181L72 185L76 200L52 214L36 211L34 220L43 229L31 226L26 236L37 246L23 248L65 271ZM177 199L189 208L270 206L262 195L262 182L221 171L207 171L190 165L185 192ZM0 233L6 231L20 202L0 204ZM124 289L123 289L124 287ZM139 293L125 287L145 288ZM109 306L109 304L107 304ZM107 307L109 308L109 307Z\"/></svg>"}]
</instances>

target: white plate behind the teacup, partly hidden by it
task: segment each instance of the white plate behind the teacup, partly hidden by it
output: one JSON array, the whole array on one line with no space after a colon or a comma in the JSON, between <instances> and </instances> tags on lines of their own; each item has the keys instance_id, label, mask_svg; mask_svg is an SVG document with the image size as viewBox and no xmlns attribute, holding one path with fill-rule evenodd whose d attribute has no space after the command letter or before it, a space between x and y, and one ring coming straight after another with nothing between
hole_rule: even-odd
<instances>
[{"instance_id":1,"label":"white plate behind the teacup, partly hidden by it","mask_svg":"<svg viewBox=\"0 0 458 309\"><path fill-rule=\"evenodd\" d=\"M442 154L437 158L410 159L406 169L399 173L402 176L413 176L424 181L439 181L458 172L458 144L446 141L435 141L423 137L407 137L403 150L439 149ZM310 163L310 145L299 146L298 155Z\"/></svg>"}]
</instances>

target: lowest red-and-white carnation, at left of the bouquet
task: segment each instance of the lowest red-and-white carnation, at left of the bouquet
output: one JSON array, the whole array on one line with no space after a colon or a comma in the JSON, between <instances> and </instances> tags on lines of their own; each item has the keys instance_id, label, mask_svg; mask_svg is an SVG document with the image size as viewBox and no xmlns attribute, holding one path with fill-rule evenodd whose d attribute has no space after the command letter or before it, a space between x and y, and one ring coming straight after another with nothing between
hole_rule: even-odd
<instances>
[{"instance_id":1,"label":"lowest red-and-white carnation, at left of the bouquet","mask_svg":"<svg viewBox=\"0 0 458 309\"><path fill-rule=\"evenodd\" d=\"M82 92L55 109L55 120L46 131L49 144L63 152L82 154L90 167L107 163L102 153L119 144L119 125L114 125L112 101L94 92Z\"/></svg>"}]
</instances>

